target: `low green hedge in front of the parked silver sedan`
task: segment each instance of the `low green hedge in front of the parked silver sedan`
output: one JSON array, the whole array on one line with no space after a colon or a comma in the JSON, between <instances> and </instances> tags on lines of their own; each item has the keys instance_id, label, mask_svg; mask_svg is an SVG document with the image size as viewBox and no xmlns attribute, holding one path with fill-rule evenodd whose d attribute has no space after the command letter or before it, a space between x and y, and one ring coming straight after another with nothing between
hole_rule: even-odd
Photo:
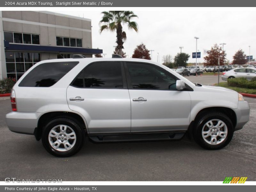
<instances>
[{"instance_id":1,"label":"low green hedge in front of the parked silver sedan","mask_svg":"<svg viewBox=\"0 0 256 192\"><path fill-rule=\"evenodd\" d=\"M228 85L233 87L256 89L256 78L254 77L251 81L244 77L228 79Z\"/></svg>"}]
</instances>

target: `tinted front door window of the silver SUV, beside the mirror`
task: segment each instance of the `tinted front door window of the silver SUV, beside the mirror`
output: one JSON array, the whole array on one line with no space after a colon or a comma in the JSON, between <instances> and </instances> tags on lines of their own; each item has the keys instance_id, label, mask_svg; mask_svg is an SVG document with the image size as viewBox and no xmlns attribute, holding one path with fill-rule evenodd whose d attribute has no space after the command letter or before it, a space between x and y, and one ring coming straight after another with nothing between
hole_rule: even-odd
<instances>
[{"instance_id":1,"label":"tinted front door window of the silver SUV, beside the mirror","mask_svg":"<svg viewBox=\"0 0 256 192\"><path fill-rule=\"evenodd\" d=\"M176 77L144 63L127 63L133 89L175 90Z\"/></svg>"}]
</instances>

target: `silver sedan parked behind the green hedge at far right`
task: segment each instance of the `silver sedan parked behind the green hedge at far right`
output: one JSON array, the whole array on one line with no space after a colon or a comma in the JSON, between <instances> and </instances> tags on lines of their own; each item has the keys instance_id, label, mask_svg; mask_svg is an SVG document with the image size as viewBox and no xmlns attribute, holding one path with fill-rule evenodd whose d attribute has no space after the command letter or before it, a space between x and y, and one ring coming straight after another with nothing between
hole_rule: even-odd
<instances>
[{"instance_id":1,"label":"silver sedan parked behind the green hedge at far right","mask_svg":"<svg viewBox=\"0 0 256 192\"><path fill-rule=\"evenodd\" d=\"M228 79L245 77L248 80L252 80L256 77L256 70L253 68L236 68L222 73L221 79L227 81Z\"/></svg>"}]
</instances>

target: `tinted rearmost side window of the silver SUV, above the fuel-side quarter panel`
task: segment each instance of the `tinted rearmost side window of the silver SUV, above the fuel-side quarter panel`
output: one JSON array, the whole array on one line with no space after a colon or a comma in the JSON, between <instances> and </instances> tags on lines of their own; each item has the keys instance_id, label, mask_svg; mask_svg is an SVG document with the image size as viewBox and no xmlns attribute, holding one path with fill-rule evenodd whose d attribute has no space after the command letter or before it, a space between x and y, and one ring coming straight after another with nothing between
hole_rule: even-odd
<instances>
[{"instance_id":1,"label":"tinted rearmost side window of the silver SUV, above the fuel-side quarter panel","mask_svg":"<svg viewBox=\"0 0 256 192\"><path fill-rule=\"evenodd\" d=\"M79 62L52 62L36 66L22 79L20 87L50 87L57 83Z\"/></svg>"}]
</instances>

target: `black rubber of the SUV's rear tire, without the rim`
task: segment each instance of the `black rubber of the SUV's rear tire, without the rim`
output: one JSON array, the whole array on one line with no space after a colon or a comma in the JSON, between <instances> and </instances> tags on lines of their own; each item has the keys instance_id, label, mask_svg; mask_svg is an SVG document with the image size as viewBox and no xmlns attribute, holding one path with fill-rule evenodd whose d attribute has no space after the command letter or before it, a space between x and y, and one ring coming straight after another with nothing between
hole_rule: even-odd
<instances>
[{"instance_id":1,"label":"black rubber of the SUV's rear tire, without the rim","mask_svg":"<svg viewBox=\"0 0 256 192\"><path fill-rule=\"evenodd\" d=\"M54 149L51 146L50 141L48 139L49 132L52 130L53 127L55 127L57 125L67 125L71 129L73 129L73 131L76 134L76 141L75 141L74 146L67 151L58 151L58 150ZM44 148L50 154L52 154L54 156L57 156L57 157L72 156L72 155L76 154L82 148L82 146L84 144L84 130L81 127L81 125L79 125L75 120L71 120L68 118L56 118L56 119L51 120L44 126L43 131L42 131L42 142L43 142ZM63 145L63 144L60 144L60 145Z\"/></svg>"}]
</instances>

